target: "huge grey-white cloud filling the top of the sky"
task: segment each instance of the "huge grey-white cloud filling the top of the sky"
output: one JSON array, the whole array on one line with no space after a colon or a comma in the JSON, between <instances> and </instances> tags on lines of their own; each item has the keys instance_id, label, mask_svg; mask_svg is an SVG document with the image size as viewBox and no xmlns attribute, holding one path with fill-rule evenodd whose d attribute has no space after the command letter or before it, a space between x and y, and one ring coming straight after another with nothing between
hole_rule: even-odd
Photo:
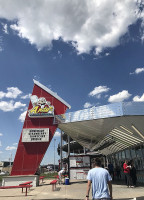
<instances>
[{"instance_id":1,"label":"huge grey-white cloud filling the top of the sky","mask_svg":"<svg viewBox=\"0 0 144 200\"><path fill-rule=\"evenodd\" d=\"M136 0L0 0L0 17L17 19L11 28L39 50L51 48L52 41L61 38L78 53L89 53L94 47L99 54L117 46L129 26L143 20L143 12L138 11Z\"/></svg>"}]
</instances>

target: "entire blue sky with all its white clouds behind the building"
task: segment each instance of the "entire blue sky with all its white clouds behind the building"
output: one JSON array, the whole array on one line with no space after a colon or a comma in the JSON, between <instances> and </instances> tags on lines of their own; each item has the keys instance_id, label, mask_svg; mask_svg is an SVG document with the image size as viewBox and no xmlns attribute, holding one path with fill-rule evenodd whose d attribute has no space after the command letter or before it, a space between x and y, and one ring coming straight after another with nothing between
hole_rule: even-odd
<instances>
[{"instance_id":1,"label":"entire blue sky with all its white clouds behind the building","mask_svg":"<svg viewBox=\"0 0 144 200\"><path fill-rule=\"evenodd\" d=\"M14 159L33 79L70 111L144 101L143 9L143 0L0 0L0 160ZM43 164L53 151L54 141Z\"/></svg>"}]
</instances>

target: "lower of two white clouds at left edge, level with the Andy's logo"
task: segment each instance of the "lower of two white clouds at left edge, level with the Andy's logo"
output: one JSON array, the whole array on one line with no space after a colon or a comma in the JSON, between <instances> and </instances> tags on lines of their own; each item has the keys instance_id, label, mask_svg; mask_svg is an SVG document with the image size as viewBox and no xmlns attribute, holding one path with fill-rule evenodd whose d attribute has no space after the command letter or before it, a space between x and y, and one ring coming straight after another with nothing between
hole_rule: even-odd
<instances>
[{"instance_id":1,"label":"lower of two white clouds at left edge, level with the Andy's logo","mask_svg":"<svg viewBox=\"0 0 144 200\"><path fill-rule=\"evenodd\" d=\"M10 111L14 111L15 109L21 108L21 107L25 107L26 104L23 104L21 102L14 102L14 101L0 101L0 110L4 111L4 112L10 112Z\"/></svg>"}]
</instances>

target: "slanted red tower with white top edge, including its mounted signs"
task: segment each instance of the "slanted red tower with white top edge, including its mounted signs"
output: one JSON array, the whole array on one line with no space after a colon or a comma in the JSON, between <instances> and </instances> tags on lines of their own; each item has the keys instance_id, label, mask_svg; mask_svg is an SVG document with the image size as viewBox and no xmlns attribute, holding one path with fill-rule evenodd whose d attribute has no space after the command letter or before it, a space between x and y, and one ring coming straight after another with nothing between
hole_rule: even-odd
<instances>
[{"instance_id":1,"label":"slanted red tower with white top edge, including its mounted signs","mask_svg":"<svg viewBox=\"0 0 144 200\"><path fill-rule=\"evenodd\" d=\"M54 116L67 108L70 105L61 97L34 80L11 176L35 174L57 129Z\"/></svg>"}]
</instances>

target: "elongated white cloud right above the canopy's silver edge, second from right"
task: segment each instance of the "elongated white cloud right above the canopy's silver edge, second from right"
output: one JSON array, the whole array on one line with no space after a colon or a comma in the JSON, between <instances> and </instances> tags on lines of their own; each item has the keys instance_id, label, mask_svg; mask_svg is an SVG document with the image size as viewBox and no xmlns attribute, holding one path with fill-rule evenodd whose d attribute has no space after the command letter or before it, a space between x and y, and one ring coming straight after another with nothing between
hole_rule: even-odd
<instances>
[{"instance_id":1,"label":"elongated white cloud right above the canopy's silver edge, second from right","mask_svg":"<svg viewBox=\"0 0 144 200\"><path fill-rule=\"evenodd\" d=\"M122 92L119 92L115 95L112 95L109 97L108 102L120 102L128 99L131 96L131 94L128 93L127 90L123 90Z\"/></svg>"}]
</instances>

